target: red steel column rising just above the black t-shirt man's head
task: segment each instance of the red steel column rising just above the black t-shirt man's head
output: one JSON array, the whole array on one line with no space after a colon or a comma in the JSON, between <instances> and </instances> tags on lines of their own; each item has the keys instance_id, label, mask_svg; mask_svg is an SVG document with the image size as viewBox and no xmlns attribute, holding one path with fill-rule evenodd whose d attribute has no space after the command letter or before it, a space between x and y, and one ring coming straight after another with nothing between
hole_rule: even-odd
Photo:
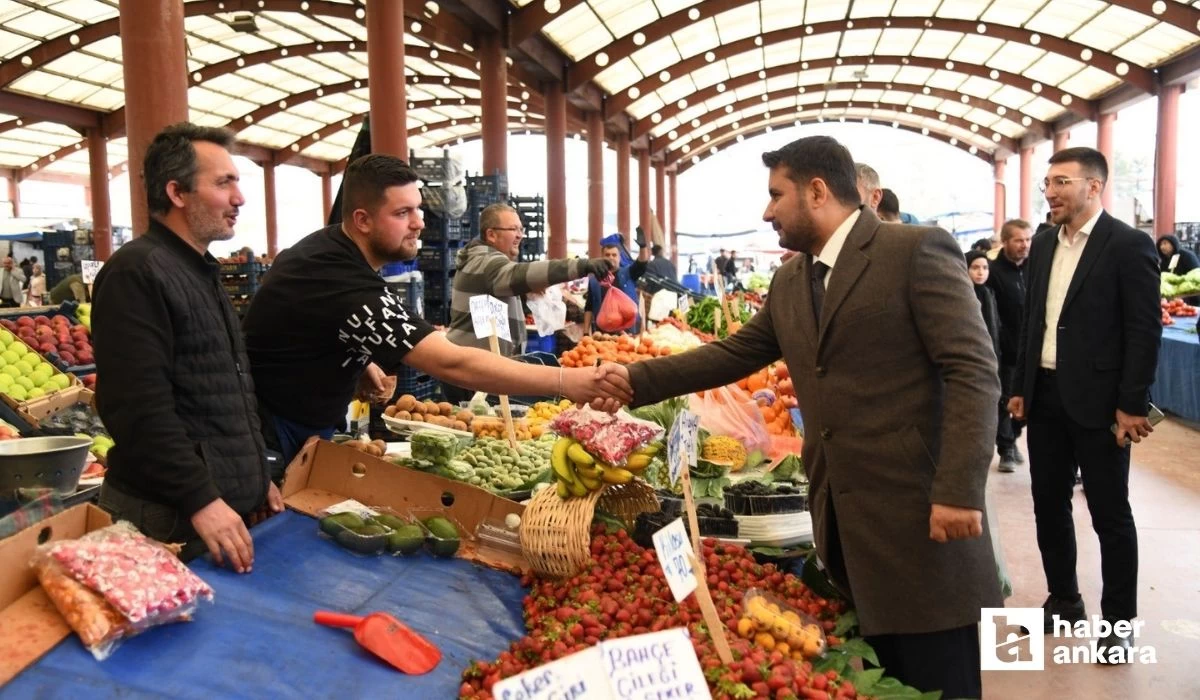
<instances>
[{"instance_id":1,"label":"red steel column rising just above the black t-shirt man's head","mask_svg":"<svg viewBox=\"0 0 1200 700\"><path fill-rule=\"evenodd\" d=\"M408 160L404 102L404 0L367 4L371 151ZM127 54L126 54L127 55ZM325 211L329 214L329 210Z\"/></svg>"}]
</instances>

